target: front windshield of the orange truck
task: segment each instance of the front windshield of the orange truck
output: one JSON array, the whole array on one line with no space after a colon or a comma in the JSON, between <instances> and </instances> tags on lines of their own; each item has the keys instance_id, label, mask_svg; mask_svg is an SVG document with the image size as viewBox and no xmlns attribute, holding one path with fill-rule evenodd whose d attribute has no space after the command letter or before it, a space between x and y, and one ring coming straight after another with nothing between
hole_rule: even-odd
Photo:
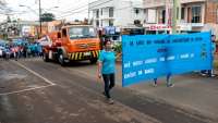
<instances>
[{"instance_id":1,"label":"front windshield of the orange truck","mask_svg":"<svg viewBox=\"0 0 218 123\"><path fill-rule=\"evenodd\" d=\"M70 39L97 37L94 27L71 27L69 29L69 36Z\"/></svg>"}]
</instances>

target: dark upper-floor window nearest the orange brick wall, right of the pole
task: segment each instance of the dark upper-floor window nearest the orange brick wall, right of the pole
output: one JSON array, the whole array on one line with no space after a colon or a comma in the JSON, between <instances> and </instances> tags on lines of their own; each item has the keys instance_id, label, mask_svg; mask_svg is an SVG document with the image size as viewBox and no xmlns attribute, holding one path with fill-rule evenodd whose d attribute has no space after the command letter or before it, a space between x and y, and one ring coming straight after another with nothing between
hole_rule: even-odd
<instances>
[{"instance_id":1,"label":"dark upper-floor window nearest the orange brick wall, right of the pole","mask_svg":"<svg viewBox=\"0 0 218 123\"><path fill-rule=\"evenodd\" d=\"M192 23L202 23L202 8L192 7Z\"/></svg>"}]
</instances>

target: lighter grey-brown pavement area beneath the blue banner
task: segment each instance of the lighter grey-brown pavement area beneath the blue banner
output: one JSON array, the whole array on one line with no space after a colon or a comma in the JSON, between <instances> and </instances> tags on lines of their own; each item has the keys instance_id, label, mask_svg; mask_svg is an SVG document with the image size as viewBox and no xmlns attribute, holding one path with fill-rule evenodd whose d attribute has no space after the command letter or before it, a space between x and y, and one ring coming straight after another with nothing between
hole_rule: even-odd
<instances>
[{"instance_id":1,"label":"lighter grey-brown pavement area beneath the blue banner","mask_svg":"<svg viewBox=\"0 0 218 123\"><path fill-rule=\"evenodd\" d=\"M117 83L121 86L121 65L117 66ZM216 71L217 73L217 71ZM160 102L170 103L190 112L202 114L218 121L218 79L217 77L203 77L192 73L173 76L174 87L166 87L166 78L158 79L158 86L153 87L153 82L141 83L128 87L135 93L146 95Z\"/></svg>"}]
</instances>

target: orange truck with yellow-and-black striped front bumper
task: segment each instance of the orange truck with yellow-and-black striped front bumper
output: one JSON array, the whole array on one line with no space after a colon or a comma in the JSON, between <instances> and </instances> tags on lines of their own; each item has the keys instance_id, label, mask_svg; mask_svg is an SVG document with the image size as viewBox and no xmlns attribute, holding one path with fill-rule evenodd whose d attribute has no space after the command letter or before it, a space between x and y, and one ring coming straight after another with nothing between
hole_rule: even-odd
<instances>
[{"instance_id":1,"label":"orange truck with yellow-and-black striped front bumper","mask_svg":"<svg viewBox=\"0 0 218 123\"><path fill-rule=\"evenodd\" d=\"M100 39L92 25L69 24L58 32L47 34L43 39L46 41L43 48L46 62L58 61L61 65L70 61L97 62Z\"/></svg>"}]
</instances>

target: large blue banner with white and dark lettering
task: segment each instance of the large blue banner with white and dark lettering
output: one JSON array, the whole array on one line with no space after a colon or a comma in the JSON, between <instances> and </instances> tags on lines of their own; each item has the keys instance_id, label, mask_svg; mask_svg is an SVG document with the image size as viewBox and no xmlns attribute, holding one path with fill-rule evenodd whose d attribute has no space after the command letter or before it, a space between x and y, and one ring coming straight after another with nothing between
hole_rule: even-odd
<instances>
[{"instance_id":1,"label":"large blue banner with white and dark lettering","mask_svg":"<svg viewBox=\"0 0 218 123\"><path fill-rule=\"evenodd\" d=\"M211 69L210 33L122 36L122 86Z\"/></svg>"}]
</instances>

